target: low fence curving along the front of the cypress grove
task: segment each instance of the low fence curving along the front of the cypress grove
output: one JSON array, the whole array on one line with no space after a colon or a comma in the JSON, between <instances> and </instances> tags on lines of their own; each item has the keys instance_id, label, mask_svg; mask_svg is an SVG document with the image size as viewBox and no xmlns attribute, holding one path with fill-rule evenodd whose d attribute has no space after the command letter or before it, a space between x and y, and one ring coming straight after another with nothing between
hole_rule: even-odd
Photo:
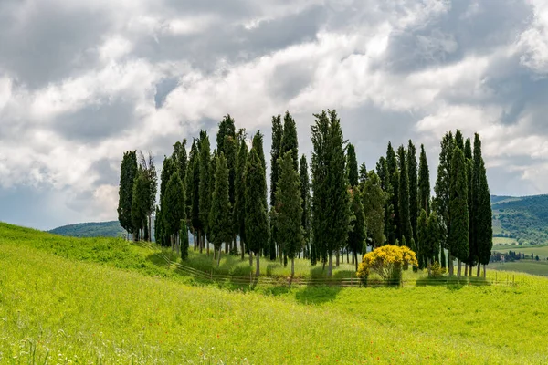
<instances>
[{"instance_id":1,"label":"low fence curving along the front of the cypress grove","mask_svg":"<svg viewBox=\"0 0 548 365\"><path fill-rule=\"evenodd\" d=\"M208 283L225 283L236 286L287 286L287 287L420 287L420 286L517 286L525 284L523 278L516 281L515 275L495 273L495 278L483 278L477 276L442 276L423 277L418 279L369 279L363 281L358 277L284 277L284 276L232 276L214 274L213 270L202 271L192 266L171 260L162 250L150 242L140 241L136 243L144 248L154 251L154 254L163 259L168 267L174 267L185 276L191 276L195 280Z\"/></svg>"}]
</instances>

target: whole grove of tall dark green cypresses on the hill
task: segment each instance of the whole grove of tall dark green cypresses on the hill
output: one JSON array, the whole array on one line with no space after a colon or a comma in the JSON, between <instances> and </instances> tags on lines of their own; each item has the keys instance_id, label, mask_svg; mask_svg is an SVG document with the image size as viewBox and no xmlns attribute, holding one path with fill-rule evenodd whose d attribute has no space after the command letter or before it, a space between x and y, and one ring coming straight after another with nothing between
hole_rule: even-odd
<instances>
[{"instance_id":1,"label":"whole grove of tall dark green cypresses on the hill","mask_svg":"<svg viewBox=\"0 0 548 365\"><path fill-rule=\"evenodd\" d=\"M164 157L160 200L152 157L128 151L121 162L119 220L134 239L155 238L183 258L188 233L194 250L220 262L225 253L260 256L291 264L302 255L332 276L346 255L357 266L367 246L407 245L416 251L418 268L434 263L458 276L487 265L492 245L490 192L481 141L475 135L448 132L441 141L434 198L430 196L427 153L417 162L413 141L396 150L389 142L375 171L358 164L355 147L345 141L335 110L314 114L311 163L299 159L297 126L289 112L272 117L270 192L267 191L263 135L251 141L227 115L212 150L204 130L186 150L186 140ZM310 168L310 171L309 171ZM239 240L239 246L237 242ZM448 252L446 260L445 252Z\"/></svg>"}]
</instances>

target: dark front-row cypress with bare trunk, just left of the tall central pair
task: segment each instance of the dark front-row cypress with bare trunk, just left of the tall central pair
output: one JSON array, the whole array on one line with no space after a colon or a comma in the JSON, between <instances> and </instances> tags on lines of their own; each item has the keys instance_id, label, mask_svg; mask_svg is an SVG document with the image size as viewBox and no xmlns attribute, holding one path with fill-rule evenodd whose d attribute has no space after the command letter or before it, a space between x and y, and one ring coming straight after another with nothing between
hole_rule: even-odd
<instances>
[{"instance_id":1,"label":"dark front-row cypress with bare trunk, just left of the tall central pair","mask_svg":"<svg viewBox=\"0 0 548 365\"><path fill-rule=\"evenodd\" d=\"M251 253L257 258L255 276L260 272L260 252L269 243L269 220L266 204L266 176L263 164L258 152L253 147L246 164L246 188L245 188L245 225L246 244L249 248L249 261Z\"/></svg>"}]
</instances>

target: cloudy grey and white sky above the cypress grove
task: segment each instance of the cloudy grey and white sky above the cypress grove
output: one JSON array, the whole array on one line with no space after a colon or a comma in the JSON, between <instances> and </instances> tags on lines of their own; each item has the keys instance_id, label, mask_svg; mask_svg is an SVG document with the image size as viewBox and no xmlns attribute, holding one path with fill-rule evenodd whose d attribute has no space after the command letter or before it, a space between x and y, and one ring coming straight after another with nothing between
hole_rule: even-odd
<instances>
[{"instance_id":1,"label":"cloudy grey and white sky above the cypress grove","mask_svg":"<svg viewBox=\"0 0 548 365\"><path fill-rule=\"evenodd\" d=\"M2 0L0 221L117 219L123 151L335 109L358 161L478 132L490 192L548 193L543 0ZM212 137L215 141L215 137ZM187 146L188 147L188 146Z\"/></svg>"}]
</instances>

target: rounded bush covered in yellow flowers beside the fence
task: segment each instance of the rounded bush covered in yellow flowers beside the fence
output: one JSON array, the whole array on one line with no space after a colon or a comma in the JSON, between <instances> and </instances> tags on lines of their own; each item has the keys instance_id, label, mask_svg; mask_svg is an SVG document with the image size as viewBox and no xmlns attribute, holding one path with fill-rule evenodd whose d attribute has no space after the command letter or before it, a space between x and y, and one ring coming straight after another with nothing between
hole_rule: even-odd
<instances>
[{"instance_id":1,"label":"rounded bush covered in yellow flowers beside the fence","mask_svg":"<svg viewBox=\"0 0 548 365\"><path fill-rule=\"evenodd\" d=\"M356 275L366 279L370 272L383 279L401 280L402 269L418 266L415 252L405 245L383 245L364 255Z\"/></svg>"}]
</instances>

